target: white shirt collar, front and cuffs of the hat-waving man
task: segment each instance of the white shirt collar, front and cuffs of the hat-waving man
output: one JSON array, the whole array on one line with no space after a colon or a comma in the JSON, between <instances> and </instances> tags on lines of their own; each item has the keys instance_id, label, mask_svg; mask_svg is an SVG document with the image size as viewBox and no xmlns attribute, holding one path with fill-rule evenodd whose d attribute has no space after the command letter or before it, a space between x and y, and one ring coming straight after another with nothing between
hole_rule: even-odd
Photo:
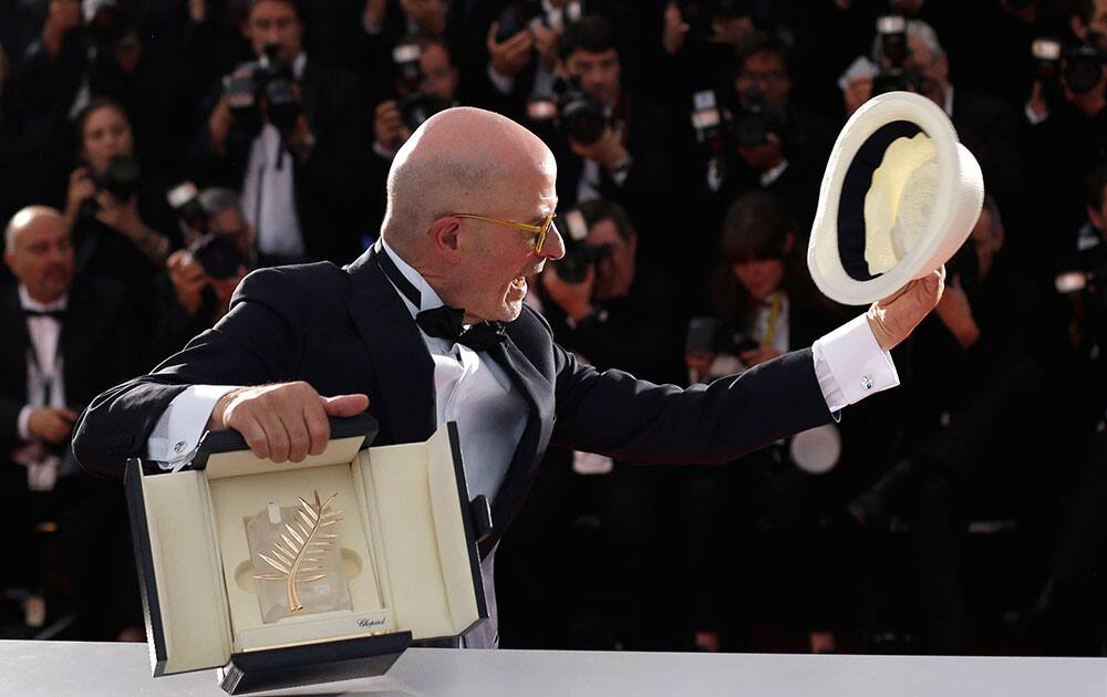
<instances>
[{"instance_id":1,"label":"white shirt collar, front and cuffs of the hat-waving man","mask_svg":"<svg viewBox=\"0 0 1107 697\"><path fill-rule=\"evenodd\" d=\"M418 309L396 291L412 316L441 305L427 282L387 243L384 248L420 291ZM423 340L434 360L437 423L457 422L470 491L492 500L526 427L526 403L486 354L426 334ZM877 343L863 314L816 341L813 353L816 378L835 418L845 406L899 384L891 354ZM177 395L154 427L147 444L149 459L166 469L192 461L215 403L231 389L194 385Z\"/></svg>"}]
</instances>

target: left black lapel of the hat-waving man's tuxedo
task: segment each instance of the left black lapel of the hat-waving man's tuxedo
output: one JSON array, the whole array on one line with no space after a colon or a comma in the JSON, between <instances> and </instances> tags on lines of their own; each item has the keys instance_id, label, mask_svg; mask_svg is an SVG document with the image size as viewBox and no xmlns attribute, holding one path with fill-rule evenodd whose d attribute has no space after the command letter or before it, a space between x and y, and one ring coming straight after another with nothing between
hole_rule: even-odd
<instances>
[{"instance_id":1,"label":"left black lapel of the hat-waving man's tuxedo","mask_svg":"<svg viewBox=\"0 0 1107 697\"><path fill-rule=\"evenodd\" d=\"M394 443L426 440L435 429L434 361L407 306L384 277L372 250L350 266L350 316L369 347L381 385L380 404Z\"/></svg>"}]
</instances>

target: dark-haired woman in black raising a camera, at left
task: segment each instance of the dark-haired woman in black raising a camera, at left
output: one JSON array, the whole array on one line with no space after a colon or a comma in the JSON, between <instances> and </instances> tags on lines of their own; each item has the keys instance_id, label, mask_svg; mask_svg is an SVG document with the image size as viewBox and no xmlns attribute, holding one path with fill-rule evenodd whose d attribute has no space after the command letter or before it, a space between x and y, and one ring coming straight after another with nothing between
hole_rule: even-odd
<instances>
[{"instance_id":1,"label":"dark-haired woman in black raising a camera, at left","mask_svg":"<svg viewBox=\"0 0 1107 697\"><path fill-rule=\"evenodd\" d=\"M76 250L76 273L111 278L136 298L151 283L177 239L157 181L142 173L131 119L105 97L76 122L79 166L70 175L64 218Z\"/></svg>"}]
</instances>

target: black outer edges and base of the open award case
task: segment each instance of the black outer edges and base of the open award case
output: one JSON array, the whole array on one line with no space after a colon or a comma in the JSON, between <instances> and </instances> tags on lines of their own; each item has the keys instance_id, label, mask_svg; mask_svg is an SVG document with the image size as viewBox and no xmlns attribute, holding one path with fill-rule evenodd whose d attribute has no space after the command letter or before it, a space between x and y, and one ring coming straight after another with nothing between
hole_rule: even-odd
<instances>
[{"instance_id":1,"label":"black outer edges and base of the open award case","mask_svg":"<svg viewBox=\"0 0 1107 697\"><path fill-rule=\"evenodd\" d=\"M332 418L330 423L331 439L365 436L361 449L368 448L373 438L376 437L376 419L365 414L350 418ZM485 497L478 496L472 501L468 499L468 487L465 481L465 469L462 462L457 425L449 423L447 424L447 428L454 459L454 474L457 478L458 504L462 507L465 537L469 541L469 565L473 572L477 610L480 617L469 627L466 627L465 631L467 632L488 617L484 579L480 575L480 558L477 541L482 534L486 534L486 531L492 529L492 519ZM210 455L246 449L248 449L248 446L238 433L210 433L204 438L196 458L187 468L205 469ZM165 644L165 630L162 625L161 605L157 597L157 582L154 575L153 548L151 545L149 529L146 526L146 506L143 497L142 478L144 476L156 477L163 474L167 472L151 462L133 458L127 462L125 475L127 510L131 517L135 560L138 566L138 580L142 589L143 612L146 620L146 636L151 651L151 670L154 677L166 674L165 665L168 660L168 655ZM396 662L411 643L411 632L395 632L380 636L231 654L230 660L221 668L223 679L220 687L230 695L238 695L314 683L383 675L392 667L392 664ZM218 666L205 666L198 669L216 667Z\"/></svg>"}]
</instances>

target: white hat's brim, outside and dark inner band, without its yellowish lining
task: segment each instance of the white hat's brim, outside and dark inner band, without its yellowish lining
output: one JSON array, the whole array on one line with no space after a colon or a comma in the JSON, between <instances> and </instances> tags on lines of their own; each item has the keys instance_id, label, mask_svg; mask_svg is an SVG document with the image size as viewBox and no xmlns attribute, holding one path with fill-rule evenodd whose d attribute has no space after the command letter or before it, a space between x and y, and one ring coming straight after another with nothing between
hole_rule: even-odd
<instances>
[{"instance_id":1,"label":"white hat's brim, outside and dark inner band, without its yellowish lining","mask_svg":"<svg viewBox=\"0 0 1107 697\"><path fill-rule=\"evenodd\" d=\"M892 142L919 132L930 138L938 167L925 227L887 271L863 273L852 263L851 273L842 263L844 250L856 252L859 235L863 247L863 197L872 171ZM825 295L842 304L867 305L887 298L948 261L972 231L983 201L980 165L958 142L945 112L910 92L877 96L846 123L827 163L807 249L811 278Z\"/></svg>"}]
</instances>

